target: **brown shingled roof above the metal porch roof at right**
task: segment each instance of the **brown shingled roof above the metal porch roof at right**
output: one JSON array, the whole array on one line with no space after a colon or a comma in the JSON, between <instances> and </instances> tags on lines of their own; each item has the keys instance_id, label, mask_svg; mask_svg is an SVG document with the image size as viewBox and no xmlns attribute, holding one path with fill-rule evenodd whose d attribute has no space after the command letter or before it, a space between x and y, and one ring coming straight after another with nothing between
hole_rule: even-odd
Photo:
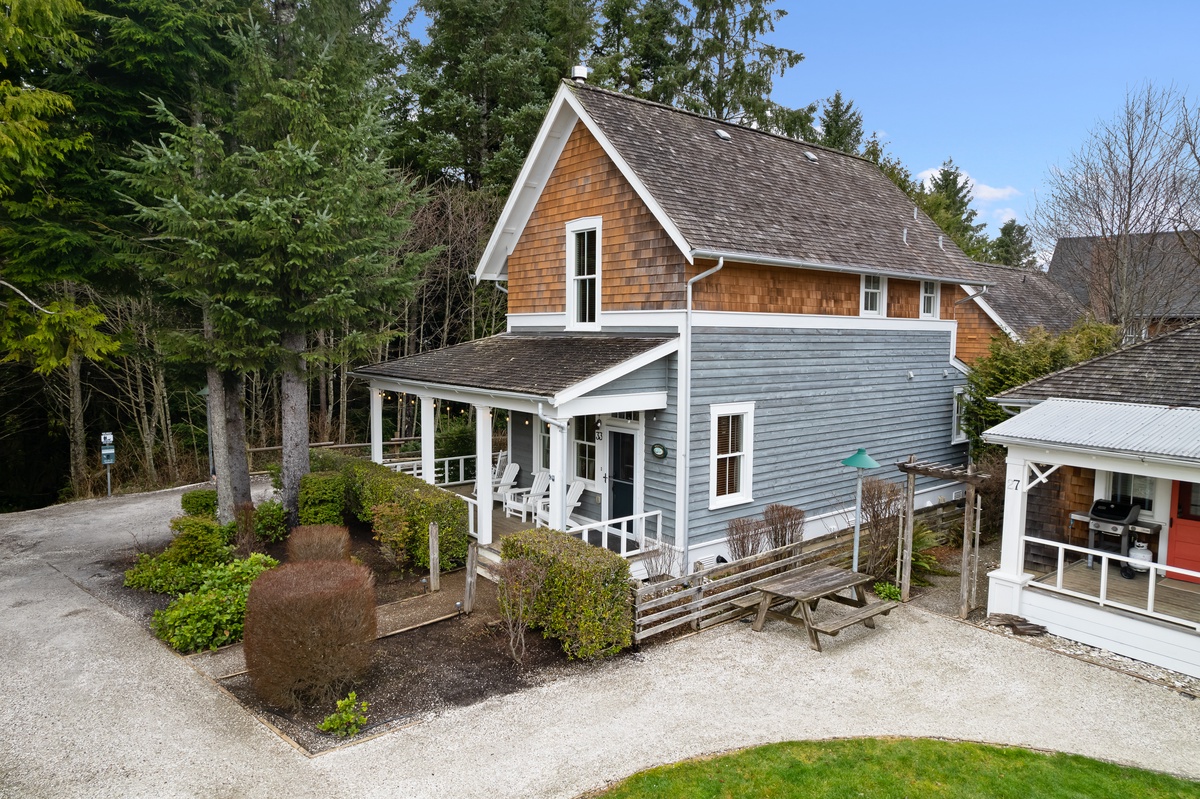
<instances>
[{"instance_id":1,"label":"brown shingled roof above the metal porch roof at right","mask_svg":"<svg viewBox=\"0 0 1200 799\"><path fill-rule=\"evenodd\" d=\"M1001 404L1031 405L1050 397L1200 408L1200 324L1093 358L1009 389Z\"/></svg>"}]
</instances>

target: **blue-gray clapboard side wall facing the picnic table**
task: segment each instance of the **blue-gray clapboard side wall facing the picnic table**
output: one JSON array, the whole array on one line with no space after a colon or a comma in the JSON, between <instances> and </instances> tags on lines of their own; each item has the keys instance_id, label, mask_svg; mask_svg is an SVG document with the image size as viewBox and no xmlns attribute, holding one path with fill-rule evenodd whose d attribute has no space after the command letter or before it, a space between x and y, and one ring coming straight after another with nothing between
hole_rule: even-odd
<instances>
[{"instance_id":1,"label":"blue-gray clapboard side wall facing the picnic table","mask_svg":"<svg viewBox=\"0 0 1200 799\"><path fill-rule=\"evenodd\" d=\"M901 482L893 465L964 463L950 444L954 388L948 332L703 329L692 336L690 539L722 537L731 518L772 503L809 515L854 501L854 471L840 461L865 446L876 476ZM913 378L908 378L912 371ZM754 402L754 501L710 511L709 405ZM922 479L918 489L936 481Z\"/></svg>"}]
</instances>

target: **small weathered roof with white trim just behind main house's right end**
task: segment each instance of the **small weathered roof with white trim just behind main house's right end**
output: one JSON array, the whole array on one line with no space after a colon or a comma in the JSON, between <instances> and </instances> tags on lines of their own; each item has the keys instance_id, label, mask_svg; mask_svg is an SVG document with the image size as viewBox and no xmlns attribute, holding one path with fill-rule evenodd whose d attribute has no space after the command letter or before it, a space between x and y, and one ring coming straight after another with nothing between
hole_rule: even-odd
<instances>
[{"instance_id":1,"label":"small weathered roof with white trim just behind main house's right end","mask_svg":"<svg viewBox=\"0 0 1200 799\"><path fill-rule=\"evenodd\" d=\"M1040 270L1000 264L978 266L991 286L976 294L976 302L1004 332L1022 336L1033 328L1045 328L1061 334L1086 313L1075 298Z\"/></svg>"}]
</instances>

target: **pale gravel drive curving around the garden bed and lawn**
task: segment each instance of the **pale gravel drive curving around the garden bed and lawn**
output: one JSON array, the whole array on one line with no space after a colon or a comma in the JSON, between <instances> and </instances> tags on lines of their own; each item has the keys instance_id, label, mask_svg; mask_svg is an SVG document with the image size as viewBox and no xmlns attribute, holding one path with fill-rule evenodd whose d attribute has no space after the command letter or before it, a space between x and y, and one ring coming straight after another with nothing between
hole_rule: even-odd
<instances>
[{"instance_id":1,"label":"pale gravel drive curving around the garden bed and lawn","mask_svg":"<svg viewBox=\"0 0 1200 799\"><path fill-rule=\"evenodd\" d=\"M1200 779L1200 702L902 607L810 650L748 624L307 758L85 590L179 491L0 516L2 797L572 797L754 744L929 735Z\"/></svg>"}]
</instances>

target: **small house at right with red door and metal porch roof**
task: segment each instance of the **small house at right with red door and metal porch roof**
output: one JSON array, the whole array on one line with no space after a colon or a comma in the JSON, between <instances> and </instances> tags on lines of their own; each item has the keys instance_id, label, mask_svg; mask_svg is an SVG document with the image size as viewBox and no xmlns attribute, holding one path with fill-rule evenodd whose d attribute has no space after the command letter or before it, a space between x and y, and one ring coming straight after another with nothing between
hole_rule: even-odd
<instances>
[{"instance_id":1,"label":"small house at right with red door and metal porch roof","mask_svg":"<svg viewBox=\"0 0 1200 799\"><path fill-rule=\"evenodd\" d=\"M1198 362L1200 324L994 397L1024 410L984 433L1008 447L990 613L1200 677ZM1123 577L1144 566L1121 536L1090 542L1096 500L1140 507L1123 547L1156 567Z\"/></svg>"}]
</instances>

